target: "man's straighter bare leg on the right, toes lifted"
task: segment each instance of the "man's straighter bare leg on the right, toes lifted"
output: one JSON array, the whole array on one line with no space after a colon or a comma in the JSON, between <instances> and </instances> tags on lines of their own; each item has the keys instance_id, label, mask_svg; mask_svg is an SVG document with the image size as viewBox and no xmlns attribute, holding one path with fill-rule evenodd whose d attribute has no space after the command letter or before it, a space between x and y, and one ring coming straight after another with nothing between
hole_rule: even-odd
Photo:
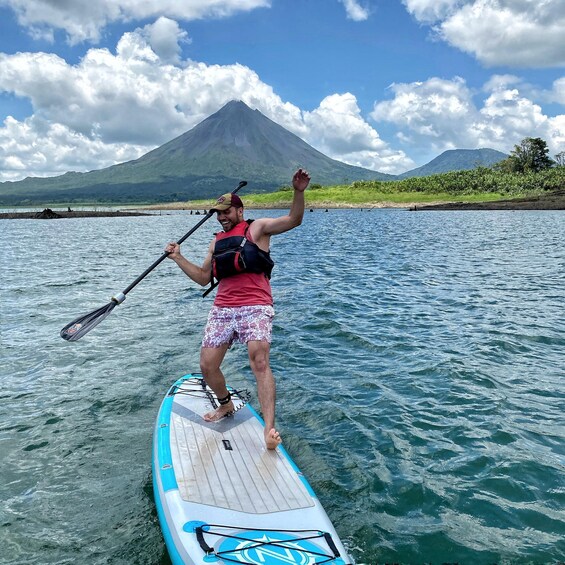
<instances>
[{"instance_id":1,"label":"man's straighter bare leg on the right, toes lifted","mask_svg":"<svg viewBox=\"0 0 565 565\"><path fill-rule=\"evenodd\" d=\"M270 343L266 341L247 342L251 370L257 380L257 396L265 420L265 444L267 449L276 449L281 443L279 432L275 428L275 378L269 365Z\"/></svg>"}]
</instances>

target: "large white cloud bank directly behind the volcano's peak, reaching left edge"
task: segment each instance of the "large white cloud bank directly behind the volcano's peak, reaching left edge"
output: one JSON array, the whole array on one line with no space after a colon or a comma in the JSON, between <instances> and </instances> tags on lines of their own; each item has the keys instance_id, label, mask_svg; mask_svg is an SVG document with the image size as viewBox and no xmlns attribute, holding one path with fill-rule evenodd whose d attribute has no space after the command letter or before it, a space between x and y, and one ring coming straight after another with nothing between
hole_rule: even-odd
<instances>
[{"instance_id":1,"label":"large white cloud bank directly behind the volcano's peak, reaching left edge","mask_svg":"<svg viewBox=\"0 0 565 565\"><path fill-rule=\"evenodd\" d=\"M100 169L134 159L181 135L232 99L245 102L330 157L384 172L412 165L362 118L352 95L313 112L284 102L248 67L178 59L168 38L186 40L160 18L91 48L77 64L47 53L0 54L0 91L30 100L33 114L0 127L0 180ZM177 43L178 45L178 43ZM39 141L34 141L34 139Z\"/></svg>"}]
</instances>

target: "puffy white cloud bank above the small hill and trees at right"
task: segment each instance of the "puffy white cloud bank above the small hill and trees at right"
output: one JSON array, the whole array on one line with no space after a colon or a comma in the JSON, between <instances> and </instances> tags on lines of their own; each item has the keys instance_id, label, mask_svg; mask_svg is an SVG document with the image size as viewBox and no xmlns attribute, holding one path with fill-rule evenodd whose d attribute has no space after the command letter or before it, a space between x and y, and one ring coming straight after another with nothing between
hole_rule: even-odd
<instances>
[{"instance_id":1,"label":"puffy white cloud bank above the small hill and trees at right","mask_svg":"<svg viewBox=\"0 0 565 565\"><path fill-rule=\"evenodd\" d=\"M559 151L565 116L544 115L522 94L519 83L510 75L492 77L480 107L461 78L395 84L393 98L377 102L371 117L395 124L403 144L435 152L478 147L509 152L524 137L541 137L550 150Z\"/></svg>"}]
</instances>

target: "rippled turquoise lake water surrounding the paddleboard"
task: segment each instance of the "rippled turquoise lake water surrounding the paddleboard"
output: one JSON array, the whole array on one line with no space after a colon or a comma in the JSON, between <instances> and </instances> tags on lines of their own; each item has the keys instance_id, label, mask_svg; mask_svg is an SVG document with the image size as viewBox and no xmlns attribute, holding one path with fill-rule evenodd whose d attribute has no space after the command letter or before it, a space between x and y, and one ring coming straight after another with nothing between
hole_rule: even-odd
<instances>
[{"instance_id":1,"label":"rippled turquoise lake water surrounding the paddleboard","mask_svg":"<svg viewBox=\"0 0 565 565\"><path fill-rule=\"evenodd\" d=\"M153 424L210 300L167 261L58 333L199 219L0 221L0 563L168 563ZM278 425L357 563L565 560L565 214L316 211L273 254Z\"/></svg>"}]
</instances>

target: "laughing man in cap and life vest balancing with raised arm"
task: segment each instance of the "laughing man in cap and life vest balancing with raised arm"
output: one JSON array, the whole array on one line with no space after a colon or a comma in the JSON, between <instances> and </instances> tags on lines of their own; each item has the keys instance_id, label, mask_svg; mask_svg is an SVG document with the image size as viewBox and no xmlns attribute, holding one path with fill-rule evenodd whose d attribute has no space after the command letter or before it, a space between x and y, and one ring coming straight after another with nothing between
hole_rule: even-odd
<instances>
[{"instance_id":1,"label":"laughing man in cap and life vest balancing with raised arm","mask_svg":"<svg viewBox=\"0 0 565 565\"><path fill-rule=\"evenodd\" d=\"M234 341L247 344L251 370L257 380L257 396L265 421L265 445L276 449L281 437L275 427L275 379L269 364L273 326L273 297L269 282L273 263L269 255L271 236L299 226L304 216L304 191L310 175L298 169L292 177L294 196L290 212L280 218L247 222L243 202L237 194L218 198L213 210L223 233L216 234L201 267L188 261L177 243L165 251L196 283L205 286L219 280L214 305L208 315L200 350L200 369L218 397L216 410L204 415L215 422L230 414L234 405L220 369ZM243 260L242 260L243 259Z\"/></svg>"}]
</instances>

